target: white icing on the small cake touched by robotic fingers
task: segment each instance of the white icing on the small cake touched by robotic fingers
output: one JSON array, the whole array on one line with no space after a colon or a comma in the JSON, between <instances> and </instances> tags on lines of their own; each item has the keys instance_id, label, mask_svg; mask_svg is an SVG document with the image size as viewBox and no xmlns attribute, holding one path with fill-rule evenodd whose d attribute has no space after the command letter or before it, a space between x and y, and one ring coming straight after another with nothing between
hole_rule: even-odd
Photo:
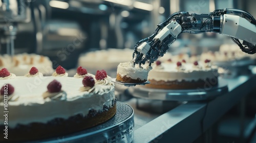
<instances>
[{"instance_id":1,"label":"white icing on the small cake touched by robotic fingers","mask_svg":"<svg viewBox=\"0 0 256 143\"><path fill-rule=\"evenodd\" d=\"M147 80L148 71L150 68L145 69L143 67L134 66L131 62L120 63L117 66L117 74L126 77L130 77L132 79L141 79Z\"/></svg>"}]
</instances>

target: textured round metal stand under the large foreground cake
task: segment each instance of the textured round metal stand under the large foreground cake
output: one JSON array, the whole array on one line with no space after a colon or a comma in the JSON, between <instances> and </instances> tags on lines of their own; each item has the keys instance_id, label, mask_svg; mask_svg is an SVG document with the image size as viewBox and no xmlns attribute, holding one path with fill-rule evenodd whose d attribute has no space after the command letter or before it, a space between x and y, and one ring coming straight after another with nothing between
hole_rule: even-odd
<instances>
[{"instance_id":1,"label":"textured round metal stand under the large foreground cake","mask_svg":"<svg viewBox=\"0 0 256 143\"><path fill-rule=\"evenodd\" d=\"M133 108L117 101L116 109L115 116L109 121L93 128L69 135L32 142L132 142L134 138Z\"/></svg>"}]
</instances>

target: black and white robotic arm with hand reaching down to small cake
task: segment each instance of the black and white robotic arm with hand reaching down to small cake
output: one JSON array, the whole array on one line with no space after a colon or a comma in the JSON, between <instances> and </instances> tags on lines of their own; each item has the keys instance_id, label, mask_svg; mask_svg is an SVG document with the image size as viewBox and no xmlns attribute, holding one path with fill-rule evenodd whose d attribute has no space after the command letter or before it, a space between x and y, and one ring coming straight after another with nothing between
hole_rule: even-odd
<instances>
[{"instance_id":1,"label":"black and white robotic arm with hand reaching down to small cake","mask_svg":"<svg viewBox=\"0 0 256 143\"><path fill-rule=\"evenodd\" d=\"M199 34L216 32L230 36L240 49L256 53L256 20L248 12L238 9L220 9L209 14L180 11L158 24L153 35L136 43L133 53L135 64L145 64L162 57L181 33ZM239 41L243 40L243 43Z\"/></svg>"}]
</instances>

